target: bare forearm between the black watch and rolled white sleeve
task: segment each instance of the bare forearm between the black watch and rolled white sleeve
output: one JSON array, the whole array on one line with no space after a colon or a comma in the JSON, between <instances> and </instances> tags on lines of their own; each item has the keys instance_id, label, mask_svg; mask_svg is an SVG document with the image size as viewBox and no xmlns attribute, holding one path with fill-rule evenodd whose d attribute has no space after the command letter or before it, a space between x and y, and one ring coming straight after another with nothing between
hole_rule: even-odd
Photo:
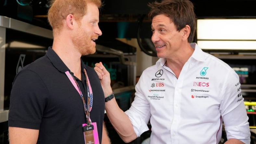
<instances>
[{"instance_id":1,"label":"bare forearm between the black watch and rolled white sleeve","mask_svg":"<svg viewBox=\"0 0 256 144\"><path fill-rule=\"evenodd\" d=\"M124 142L137 138L129 117L119 108L115 98L105 102L105 109L111 124Z\"/></svg>"}]
</instances>

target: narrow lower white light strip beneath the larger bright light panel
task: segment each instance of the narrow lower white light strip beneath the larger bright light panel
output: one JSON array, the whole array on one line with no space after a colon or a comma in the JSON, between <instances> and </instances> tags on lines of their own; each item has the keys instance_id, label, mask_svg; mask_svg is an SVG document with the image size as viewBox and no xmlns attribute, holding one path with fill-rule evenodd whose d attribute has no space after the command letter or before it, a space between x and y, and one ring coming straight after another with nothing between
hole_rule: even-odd
<instances>
[{"instance_id":1,"label":"narrow lower white light strip beneath the larger bright light panel","mask_svg":"<svg viewBox=\"0 0 256 144\"><path fill-rule=\"evenodd\" d=\"M197 41L201 49L256 50L256 41Z\"/></svg>"}]
</instances>

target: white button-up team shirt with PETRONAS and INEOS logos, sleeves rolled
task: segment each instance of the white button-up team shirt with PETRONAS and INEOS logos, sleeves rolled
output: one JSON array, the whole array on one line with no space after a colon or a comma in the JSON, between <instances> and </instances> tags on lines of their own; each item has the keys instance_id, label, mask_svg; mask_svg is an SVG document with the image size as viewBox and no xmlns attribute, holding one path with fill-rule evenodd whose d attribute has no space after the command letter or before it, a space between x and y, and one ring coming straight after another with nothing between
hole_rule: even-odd
<instances>
[{"instance_id":1,"label":"white button-up team shirt with PETRONAS and INEOS logos, sleeves rolled","mask_svg":"<svg viewBox=\"0 0 256 144\"><path fill-rule=\"evenodd\" d=\"M148 130L150 119L150 144L218 144L223 121L227 139L249 144L238 75L196 43L191 46L195 51L178 79L163 58L142 73L134 102L125 112L136 135Z\"/></svg>"}]
</instances>

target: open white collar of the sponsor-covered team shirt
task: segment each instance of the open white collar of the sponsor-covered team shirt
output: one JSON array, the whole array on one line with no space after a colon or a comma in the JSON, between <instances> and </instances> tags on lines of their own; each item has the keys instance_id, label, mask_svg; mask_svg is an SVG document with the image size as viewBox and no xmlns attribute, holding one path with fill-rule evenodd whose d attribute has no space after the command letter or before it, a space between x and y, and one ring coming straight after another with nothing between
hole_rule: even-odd
<instances>
[{"instance_id":1,"label":"open white collar of the sponsor-covered team shirt","mask_svg":"<svg viewBox=\"0 0 256 144\"><path fill-rule=\"evenodd\" d=\"M195 49L193 54L191 55L191 57L193 57L195 60L204 62L205 61L205 56L204 56L204 52L199 48L199 46L197 45L197 43L190 43L190 46ZM156 66L159 67L164 66L166 62L165 58L159 58L159 60L156 62Z\"/></svg>"}]
</instances>

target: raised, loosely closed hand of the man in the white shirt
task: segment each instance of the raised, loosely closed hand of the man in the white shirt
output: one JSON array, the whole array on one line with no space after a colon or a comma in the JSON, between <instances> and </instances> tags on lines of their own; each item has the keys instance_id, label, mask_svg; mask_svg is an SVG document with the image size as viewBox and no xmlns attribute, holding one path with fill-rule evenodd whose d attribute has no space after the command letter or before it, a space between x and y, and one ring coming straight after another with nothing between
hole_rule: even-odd
<instances>
[{"instance_id":1,"label":"raised, loosely closed hand of the man in the white shirt","mask_svg":"<svg viewBox=\"0 0 256 144\"><path fill-rule=\"evenodd\" d=\"M96 63L94 70L96 71L100 79L101 87L106 98L112 93L112 89L110 86L110 74L108 70L103 66L102 62Z\"/></svg>"}]
</instances>

